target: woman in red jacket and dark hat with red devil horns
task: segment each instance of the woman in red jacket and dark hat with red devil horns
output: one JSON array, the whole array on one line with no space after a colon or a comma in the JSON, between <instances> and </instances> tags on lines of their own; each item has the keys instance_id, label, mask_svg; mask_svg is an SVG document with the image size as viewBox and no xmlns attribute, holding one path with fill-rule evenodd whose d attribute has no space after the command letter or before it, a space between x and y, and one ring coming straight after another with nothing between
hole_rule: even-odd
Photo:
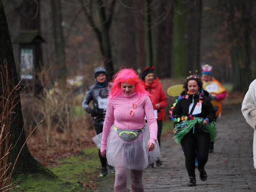
<instances>
[{"instance_id":1,"label":"woman in red jacket and dark hat with red devil horns","mask_svg":"<svg viewBox=\"0 0 256 192\"><path fill-rule=\"evenodd\" d=\"M162 132L163 120L165 119L164 108L167 105L167 97L163 91L162 84L159 82L159 79L157 78L154 80L154 69L154 66L151 68L146 67L145 71L142 73L142 80L146 91L154 98L152 105L157 119L157 140L160 147L160 136ZM156 165L157 167L162 165L160 159L157 160ZM150 164L148 167L153 168L154 164Z\"/></svg>"}]
</instances>

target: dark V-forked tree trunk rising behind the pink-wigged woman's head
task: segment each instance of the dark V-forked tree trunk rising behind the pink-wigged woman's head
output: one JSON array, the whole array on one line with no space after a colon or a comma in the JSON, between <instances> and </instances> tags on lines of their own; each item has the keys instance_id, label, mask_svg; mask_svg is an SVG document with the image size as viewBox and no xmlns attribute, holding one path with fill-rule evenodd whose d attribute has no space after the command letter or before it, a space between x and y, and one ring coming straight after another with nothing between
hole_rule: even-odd
<instances>
[{"instance_id":1,"label":"dark V-forked tree trunk rising behind the pink-wigged woman's head","mask_svg":"<svg viewBox=\"0 0 256 192\"><path fill-rule=\"evenodd\" d=\"M115 8L116 0L112 0L109 3L104 4L103 0L89 0L85 4L83 0L79 0L83 7L84 14L89 22L89 25L93 28L96 37L99 42L101 56L107 71L107 79L111 80L114 75L114 67L111 53L111 43L109 38L109 28ZM98 16L98 23L96 22Z\"/></svg>"}]
</instances>

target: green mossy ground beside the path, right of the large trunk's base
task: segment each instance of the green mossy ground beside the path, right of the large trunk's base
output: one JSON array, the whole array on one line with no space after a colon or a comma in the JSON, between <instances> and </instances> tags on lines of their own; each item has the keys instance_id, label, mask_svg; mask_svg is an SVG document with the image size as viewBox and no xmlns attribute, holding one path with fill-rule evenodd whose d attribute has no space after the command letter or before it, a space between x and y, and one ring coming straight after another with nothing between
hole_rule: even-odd
<instances>
[{"instance_id":1,"label":"green mossy ground beside the path, right of the large trunk's base","mask_svg":"<svg viewBox=\"0 0 256 192\"><path fill-rule=\"evenodd\" d=\"M57 178L35 173L30 175L20 174L13 178L12 183L20 188L12 191L26 192L80 192L94 191L93 179L98 176L100 162L98 148L87 148L77 156L63 158L63 164L48 167Z\"/></svg>"}]
</instances>

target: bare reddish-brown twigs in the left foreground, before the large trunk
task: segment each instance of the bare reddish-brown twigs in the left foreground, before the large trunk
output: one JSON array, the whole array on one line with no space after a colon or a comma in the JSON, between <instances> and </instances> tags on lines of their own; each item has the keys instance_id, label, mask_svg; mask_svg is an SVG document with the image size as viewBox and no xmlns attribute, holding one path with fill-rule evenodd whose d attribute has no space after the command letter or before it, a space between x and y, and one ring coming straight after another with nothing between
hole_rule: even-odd
<instances>
[{"instance_id":1,"label":"bare reddish-brown twigs in the left foreground, before the large trunk","mask_svg":"<svg viewBox=\"0 0 256 192\"><path fill-rule=\"evenodd\" d=\"M14 121L13 110L15 106L20 102L20 86L19 84L15 86L13 81L8 80L7 65L0 67L1 69L5 69L5 71L1 70L0 72L0 191L7 192L11 189L19 187L11 184L12 173L22 149L24 148L27 140L37 128L37 126L28 136L24 145L20 149L14 164L8 162L8 155L10 154L10 151L15 147L12 146L12 144L9 142L11 136L10 128L12 122Z\"/></svg>"}]
</instances>

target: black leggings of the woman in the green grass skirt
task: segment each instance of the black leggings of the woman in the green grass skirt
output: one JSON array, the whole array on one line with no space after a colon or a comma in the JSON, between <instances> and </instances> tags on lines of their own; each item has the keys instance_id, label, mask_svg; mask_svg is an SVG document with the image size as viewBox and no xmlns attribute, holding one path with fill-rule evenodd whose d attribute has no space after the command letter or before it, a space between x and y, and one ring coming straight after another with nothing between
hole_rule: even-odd
<instances>
[{"instance_id":1,"label":"black leggings of the woman in the green grass skirt","mask_svg":"<svg viewBox=\"0 0 256 192\"><path fill-rule=\"evenodd\" d=\"M209 133L193 134L192 130L181 140L180 144L185 155L185 165L190 177L195 177L195 156L198 161L198 169L204 168L208 160L210 141Z\"/></svg>"}]
</instances>

